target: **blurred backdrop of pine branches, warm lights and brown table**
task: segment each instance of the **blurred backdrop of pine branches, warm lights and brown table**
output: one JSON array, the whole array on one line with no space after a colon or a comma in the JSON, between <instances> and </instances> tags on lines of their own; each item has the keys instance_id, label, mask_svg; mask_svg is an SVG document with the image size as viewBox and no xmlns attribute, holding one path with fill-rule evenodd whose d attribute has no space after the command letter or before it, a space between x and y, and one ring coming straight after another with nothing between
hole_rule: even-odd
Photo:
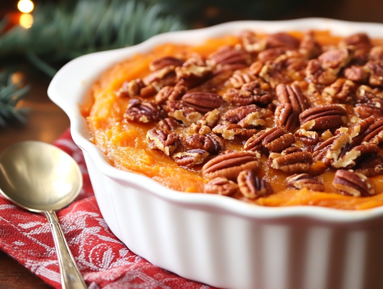
<instances>
[{"instance_id":1,"label":"blurred backdrop of pine branches, warm lights and brown table","mask_svg":"<svg viewBox=\"0 0 383 289\"><path fill-rule=\"evenodd\" d=\"M383 23L382 0L0 0L0 153L53 142L69 120L47 97L70 59L166 31L233 20L326 17ZM49 288L0 251L0 288Z\"/></svg>"}]
</instances>

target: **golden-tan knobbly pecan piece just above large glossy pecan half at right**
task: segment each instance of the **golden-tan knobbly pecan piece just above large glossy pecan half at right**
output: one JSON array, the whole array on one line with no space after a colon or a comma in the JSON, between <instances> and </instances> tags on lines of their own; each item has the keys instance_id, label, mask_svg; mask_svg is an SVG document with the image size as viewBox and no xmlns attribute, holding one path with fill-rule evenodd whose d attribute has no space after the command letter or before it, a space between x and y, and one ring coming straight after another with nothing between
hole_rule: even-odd
<instances>
[{"instance_id":1,"label":"golden-tan knobbly pecan piece just above large glossy pecan half at right","mask_svg":"<svg viewBox=\"0 0 383 289\"><path fill-rule=\"evenodd\" d=\"M322 95L327 94L336 101L350 102L354 99L355 88L356 86L352 81L338 78L333 84L323 89Z\"/></svg>"}]
</instances>

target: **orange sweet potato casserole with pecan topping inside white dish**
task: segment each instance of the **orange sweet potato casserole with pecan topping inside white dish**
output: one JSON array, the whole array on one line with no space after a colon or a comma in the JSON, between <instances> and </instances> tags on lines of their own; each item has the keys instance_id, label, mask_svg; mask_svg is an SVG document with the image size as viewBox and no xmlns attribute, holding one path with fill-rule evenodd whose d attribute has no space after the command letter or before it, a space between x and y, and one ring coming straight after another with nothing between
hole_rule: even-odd
<instances>
[{"instance_id":1,"label":"orange sweet potato casserole with pecan topping inside white dish","mask_svg":"<svg viewBox=\"0 0 383 289\"><path fill-rule=\"evenodd\" d=\"M383 205L383 42L242 31L116 64L83 106L123 170L265 206Z\"/></svg>"}]
</instances>

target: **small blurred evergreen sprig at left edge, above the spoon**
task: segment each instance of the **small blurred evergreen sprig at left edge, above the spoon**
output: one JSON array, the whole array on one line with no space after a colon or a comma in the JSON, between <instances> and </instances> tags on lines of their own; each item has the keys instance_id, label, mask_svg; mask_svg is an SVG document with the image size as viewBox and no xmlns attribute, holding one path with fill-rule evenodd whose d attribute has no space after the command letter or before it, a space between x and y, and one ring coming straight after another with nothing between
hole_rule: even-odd
<instances>
[{"instance_id":1,"label":"small blurred evergreen sprig at left edge, above the spoon","mask_svg":"<svg viewBox=\"0 0 383 289\"><path fill-rule=\"evenodd\" d=\"M20 84L12 80L12 75L10 71L0 73L0 127L14 122L26 122L27 109L18 108L16 104L26 95L29 86L20 88Z\"/></svg>"}]
</instances>

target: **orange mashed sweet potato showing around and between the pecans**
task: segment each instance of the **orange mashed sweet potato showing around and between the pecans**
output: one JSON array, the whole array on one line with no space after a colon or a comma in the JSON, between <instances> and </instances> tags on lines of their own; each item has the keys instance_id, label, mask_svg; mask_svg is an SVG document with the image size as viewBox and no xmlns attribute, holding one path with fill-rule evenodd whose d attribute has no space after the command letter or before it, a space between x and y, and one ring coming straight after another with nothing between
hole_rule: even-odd
<instances>
[{"instance_id":1,"label":"orange mashed sweet potato showing around and between the pecans","mask_svg":"<svg viewBox=\"0 0 383 289\"><path fill-rule=\"evenodd\" d=\"M303 33L300 32L291 32L290 35L298 40L303 38ZM315 31L314 36L321 46L336 46L339 41L342 40L340 37L331 36L328 31ZM258 37L263 39L265 35L258 35ZM116 168L146 175L174 190L190 193L203 192L204 184L208 182L201 174L203 163L191 168L181 167L162 151L151 149L148 145L146 135L151 129L160 130L159 122L152 121L143 123L127 121L124 114L132 97L121 97L117 92L125 82L135 79L144 79L152 73L149 66L155 59L165 56L189 59L194 53L200 54L202 58L208 58L209 55L222 46L235 46L239 43L240 41L236 36L224 36L211 39L197 46L166 43L157 46L149 53L138 54L131 59L126 59L114 65L103 73L98 81L93 84L90 91L93 99L92 104L82 106L83 115L87 117L88 126L92 134L91 141L103 151ZM373 45L380 45L381 41L373 40L372 43ZM276 47L278 47L278 45L276 45ZM280 55L283 55L283 53ZM293 81L300 83L300 87L311 103L311 106L334 103L331 97L326 99L323 98L322 94L308 93L312 87L310 87L310 80L307 79L306 75L298 73L297 70L293 70L288 76L291 81L286 81L285 83L292 83ZM265 81L265 83L269 82L270 81ZM306 84L304 82L306 82ZM322 85L321 89L330 84ZM359 86L360 84L357 85ZM215 92L222 96L231 87L232 85L229 81L224 81L216 86ZM267 87L267 85L264 87ZM203 84L199 84L193 89L195 91L203 89ZM269 91L272 91L275 102L275 87L269 88ZM154 101L155 94L146 96L144 99L146 101ZM269 104L270 107L273 105L272 102ZM342 127L352 127L355 124L352 119L353 117L359 117L359 119L363 119L363 117L355 114L352 108L346 107L348 111L347 122L345 122ZM275 109L275 107L273 109ZM264 127L261 129L257 127L256 129L258 131L267 126L272 126L273 116L265 117L264 120ZM177 133L181 138L195 134L195 130L193 130L191 126L180 126L172 131ZM332 129L332 133L334 134L334 129ZM245 142L246 139L225 139L225 149L236 151L244 150L243 145ZM312 153L313 146L311 145L310 147L310 145L304 144L299 137L296 137L295 145L303 150L309 150L310 153ZM381 151L379 155L382 155ZM267 164L267 155L262 155L260 160L262 165L255 173L257 177L262 178L271 185L274 193L264 197L249 199L241 193L236 192L232 197L263 206L315 205L361 210L383 205L383 194L381 193L383 192L383 175L381 174L369 178L375 188L375 195L354 197L342 195L334 189L332 182L336 170L331 166L324 165L320 160L314 160L313 163L311 163L309 172L316 175L316 178L324 184L324 192L315 192L307 188L287 188L285 180L286 177L292 173L283 172L280 169L270 167L270 165Z\"/></svg>"}]
</instances>

